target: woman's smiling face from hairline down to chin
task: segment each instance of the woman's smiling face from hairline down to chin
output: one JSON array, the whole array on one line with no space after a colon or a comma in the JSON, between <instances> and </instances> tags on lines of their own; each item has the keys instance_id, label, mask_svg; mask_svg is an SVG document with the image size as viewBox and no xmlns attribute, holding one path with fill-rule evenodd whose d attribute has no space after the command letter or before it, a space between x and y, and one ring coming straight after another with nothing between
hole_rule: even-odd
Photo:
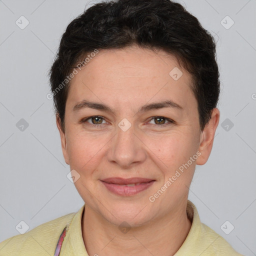
<instances>
[{"instance_id":1,"label":"woman's smiling face from hairline down to chin","mask_svg":"<svg viewBox=\"0 0 256 256\"><path fill-rule=\"evenodd\" d=\"M164 101L172 103L151 105ZM202 134L190 74L173 56L134 46L99 50L75 74L60 130L86 207L130 226L186 202L195 164L208 157L199 156Z\"/></svg>"}]
</instances>

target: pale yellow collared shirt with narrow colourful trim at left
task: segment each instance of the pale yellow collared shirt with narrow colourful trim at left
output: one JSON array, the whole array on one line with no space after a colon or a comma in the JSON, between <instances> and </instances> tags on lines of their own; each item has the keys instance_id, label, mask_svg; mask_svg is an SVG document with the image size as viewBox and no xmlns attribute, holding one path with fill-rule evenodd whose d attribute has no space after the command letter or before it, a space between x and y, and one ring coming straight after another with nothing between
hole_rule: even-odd
<instances>
[{"instance_id":1,"label":"pale yellow collared shirt with narrow colourful trim at left","mask_svg":"<svg viewBox=\"0 0 256 256\"><path fill-rule=\"evenodd\" d=\"M32 230L0 242L0 256L54 255L63 228L69 223L59 256L88 256L84 246L81 218L85 204L76 212L53 219ZM194 204L187 200L187 215L192 225L174 256L243 256L214 230L201 223Z\"/></svg>"}]
</instances>

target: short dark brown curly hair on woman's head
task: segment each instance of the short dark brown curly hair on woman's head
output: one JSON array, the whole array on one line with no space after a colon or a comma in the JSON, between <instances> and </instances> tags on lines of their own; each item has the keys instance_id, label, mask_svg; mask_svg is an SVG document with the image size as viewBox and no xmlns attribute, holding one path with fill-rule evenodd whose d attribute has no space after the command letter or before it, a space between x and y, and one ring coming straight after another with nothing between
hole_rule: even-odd
<instances>
[{"instance_id":1,"label":"short dark brown curly hair on woman's head","mask_svg":"<svg viewBox=\"0 0 256 256\"><path fill-rule=\"evenodd\" d=\"M200 129L211 118L219 97L215 41L198 19L171 0L111 0L96 3L73 19L63 33L48 72L55 114L64 131L70 81L65 79L95 49L138 45L161 49L177 58L192 77ZM56 88L65 80L63 89Z\"/></svg>"}]
</instances>

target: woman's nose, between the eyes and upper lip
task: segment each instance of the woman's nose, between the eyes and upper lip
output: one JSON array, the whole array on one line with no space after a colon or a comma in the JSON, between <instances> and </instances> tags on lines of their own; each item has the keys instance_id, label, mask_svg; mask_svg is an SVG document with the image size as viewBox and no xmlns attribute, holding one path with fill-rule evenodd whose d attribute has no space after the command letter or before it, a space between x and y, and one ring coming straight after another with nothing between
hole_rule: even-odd
<instances>
[{"instance_id":1,"label":"woman's nose, between the eyes and upper lip","mask_svg":"<svg viewBox=\"0 0 256 256\"><path fill-rule=\"evenodd\" d=\"M117 126L116 134L110 142L107 158L122 168L132 167L146 159L145 145L136 134L133 125L126 131Z\"/></svg>"}]
</instances>

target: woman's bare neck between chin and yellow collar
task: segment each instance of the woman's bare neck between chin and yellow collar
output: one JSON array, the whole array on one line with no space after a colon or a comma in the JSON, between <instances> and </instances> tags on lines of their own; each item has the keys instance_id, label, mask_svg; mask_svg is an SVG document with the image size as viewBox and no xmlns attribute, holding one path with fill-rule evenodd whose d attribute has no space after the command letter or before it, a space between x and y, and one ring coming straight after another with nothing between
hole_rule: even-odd
<instances>
[{"instance_id":1,"label":"woman's bare neck between chin and yellow collar","mask_svg":"<svg viewBox=\"0 0 256 256\"><path fill-rule=\"evenodd\" d=\"M127 233L122 233L86 205L82 216L83 241L89 256L119 256L121 251L128 256L171 256L184 242L190 227L186 201L175 213L132 227Z\"/></svg>"}]
</instances>

